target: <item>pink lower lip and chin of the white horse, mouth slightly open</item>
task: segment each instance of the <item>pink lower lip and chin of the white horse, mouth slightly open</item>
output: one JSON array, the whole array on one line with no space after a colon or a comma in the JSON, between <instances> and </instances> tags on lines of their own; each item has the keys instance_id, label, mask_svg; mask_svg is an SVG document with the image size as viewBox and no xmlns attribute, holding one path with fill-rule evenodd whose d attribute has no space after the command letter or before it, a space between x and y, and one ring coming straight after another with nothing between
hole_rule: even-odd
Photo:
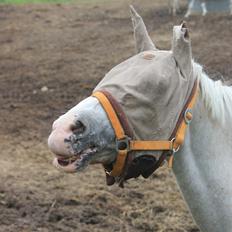
<instances>
[{"instance_id":1,"label":"pink lower lip and chin of the white horse, mouth slightly open","mask_svg":"<svg viewBox=\"0 0 232 232\"><path fill-rule=\"evenodd\" d=\"M66 173L75 173L83 171L91 162L93 155L97 152L96 148L88 148L79 154L70 157L56 155L53 160L53 165Z\"/></svg>"}]
</instances>

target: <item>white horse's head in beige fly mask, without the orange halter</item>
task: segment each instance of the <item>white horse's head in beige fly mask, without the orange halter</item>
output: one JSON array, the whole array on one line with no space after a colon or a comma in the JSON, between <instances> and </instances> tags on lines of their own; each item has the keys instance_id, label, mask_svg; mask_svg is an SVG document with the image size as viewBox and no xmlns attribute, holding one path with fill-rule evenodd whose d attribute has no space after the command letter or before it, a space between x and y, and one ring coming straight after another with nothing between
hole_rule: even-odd
<instances>
[{"instance_id":1,"label":"white horse's head in beige fly mask, without the orange halter","mask_svg":"<svg viewBox=\"0 0 232 232\"><path fill-rule=\"evenodd\" d=\"M137 54L110 70L93 92L109 93L126 115L131 137L168 140L193 85L189 31L185 23L173 28L171 50L159 50L140 15L131 7ZM120 113L119 113L120 114ZM117 159L115 130L99 99L90 96L60 116L52 127L48 146L54 165L78 172L101 163L107 170ZM135 151L124 179L149 176L162 151ZM107 174L108 184L117 180ZM119 178L120 179L120 178Z\"/></svg>"}]
</instances>

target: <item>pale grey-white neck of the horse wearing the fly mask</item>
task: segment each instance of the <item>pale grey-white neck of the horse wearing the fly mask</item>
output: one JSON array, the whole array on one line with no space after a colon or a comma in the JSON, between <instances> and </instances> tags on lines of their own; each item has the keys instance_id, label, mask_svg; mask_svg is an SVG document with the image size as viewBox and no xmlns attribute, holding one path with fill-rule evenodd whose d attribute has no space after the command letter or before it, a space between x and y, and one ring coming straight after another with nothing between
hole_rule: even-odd
<instances>
[{"instance_id":1,"label":"pale grey-white neck of the horse wearing the fly mask","mask_svg":"<svg viewBox=\"0 0 232 232\"><path fill-rule=\"evenodd\" d=\"M175 154L173 172L201 230L231 232L232 113L227 108L232 106L228 105L232 93L219 94L219 89L225 91L224 87L216 86L205 76L201 78L194 119L184 146Z\"/></svg>"}]
</instances>

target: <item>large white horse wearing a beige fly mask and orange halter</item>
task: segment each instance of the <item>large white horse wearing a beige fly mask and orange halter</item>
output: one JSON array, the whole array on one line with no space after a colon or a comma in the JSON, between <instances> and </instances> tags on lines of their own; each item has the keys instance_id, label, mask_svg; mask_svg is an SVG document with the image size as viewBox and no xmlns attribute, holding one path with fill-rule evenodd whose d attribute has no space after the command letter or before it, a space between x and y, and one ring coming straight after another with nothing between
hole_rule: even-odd
<instances>
[{"instance_id":1,"label":"large white horse wearing a beige fly mask and orange halter","mask_svg":"<svg viewBox=\"0 0 232 232\"><path fill-rule=\"evenodd\" d=\"M137 54L110 70L93 95L54 121L48 138L53 164L66 173L103 164L112 185L139 175L147 178L167 153L165 160L172 160L177 184L200 230L231 232L232 87L211 80L193 60L186 23L174 26L172 48L166 51L156 47L132 6L131 17ZM195 102L189 107L192 93ZM97 94L105 97L104 104ZM182 115L186 105L189 109ZM171 136L180 118L186 130L183 143L174 146ZM118 140L122 128L127 136ZM172 141L172 152L154 148L127 153L131 140L138 146ZM125 169L113 174L125 154Z\"/></svg>"}]
</instances>

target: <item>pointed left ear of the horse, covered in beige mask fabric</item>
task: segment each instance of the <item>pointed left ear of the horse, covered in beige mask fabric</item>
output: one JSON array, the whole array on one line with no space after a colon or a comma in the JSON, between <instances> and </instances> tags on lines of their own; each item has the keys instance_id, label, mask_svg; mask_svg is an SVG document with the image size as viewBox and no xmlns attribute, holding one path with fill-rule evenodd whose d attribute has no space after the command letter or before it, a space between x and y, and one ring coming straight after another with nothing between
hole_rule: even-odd
<instances>
[{"instance_id":1,"label":"pointed left ear of the horse, covered in beige mask fabric","mask_svg":"<svg viewBox=\"0 0 232 232\"><path fill-rule=\"evenodd\" d=\"M134 28L134 37L137 52L140 53L142 51L147 50L157 50L154 43L148 35L142 17L136 12L133 6L130 6L130 12Z\"/></svg>"}]
</instances>

